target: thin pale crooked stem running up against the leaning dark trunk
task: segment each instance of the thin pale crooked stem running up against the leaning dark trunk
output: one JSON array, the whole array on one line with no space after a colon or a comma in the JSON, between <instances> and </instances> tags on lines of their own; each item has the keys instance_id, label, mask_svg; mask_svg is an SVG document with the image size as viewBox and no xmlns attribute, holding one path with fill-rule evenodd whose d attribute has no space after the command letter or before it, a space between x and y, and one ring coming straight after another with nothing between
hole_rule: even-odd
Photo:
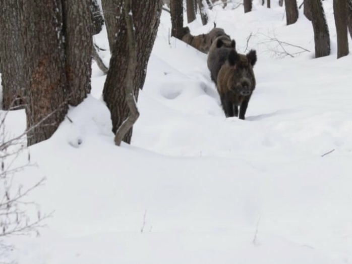
<instances>
[{"instance_id":1,"label":"thin pale crooked stem running up against the leaning dark trunk","mask_svg":"<svg viewBox=\"0 0 352 264\"><path fill-rule=\"evenodd\" d=\"M139 117L137 102L134 94L134 70L137 66L137 45L133 25L133 13L131 12L131 0L125 0L124 9L129 50L127 74L125 77L125 96L130 113L127 119L121 124L121 126L116 131L114 141L115 145L118 146L121 145L121 142L124 139L125 135L133 127Z\"/></svg>"}]
</instances>

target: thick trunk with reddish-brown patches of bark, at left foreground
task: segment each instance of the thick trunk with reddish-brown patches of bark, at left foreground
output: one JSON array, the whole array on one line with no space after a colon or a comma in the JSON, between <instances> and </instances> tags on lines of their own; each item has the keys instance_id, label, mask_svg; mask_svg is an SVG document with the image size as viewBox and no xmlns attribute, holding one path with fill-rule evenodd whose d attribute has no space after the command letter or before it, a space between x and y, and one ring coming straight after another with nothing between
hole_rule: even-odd
<instances>
[{"instance_id":1,"label":"thick trunk with reddish-brown patches of bark, at left foreground","mask_svg":"<svg viewBox=\"0 0 352 264\"><path fill-rule=\"evenodd\" d=\"M23 10L27 142L33 145L55 132L68 109L63 13L60 0L23 1Z\"/></svg>"}]
</instances>

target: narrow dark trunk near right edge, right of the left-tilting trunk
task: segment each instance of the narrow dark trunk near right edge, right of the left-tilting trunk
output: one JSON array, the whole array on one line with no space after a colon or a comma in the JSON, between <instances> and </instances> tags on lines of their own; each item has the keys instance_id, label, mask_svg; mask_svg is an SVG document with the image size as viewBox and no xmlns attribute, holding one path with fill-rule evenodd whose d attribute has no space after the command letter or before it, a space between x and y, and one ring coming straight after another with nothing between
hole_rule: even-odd
<instances>
[{"instance_id":1,"label":"narrow dark trunk near right edge, right of the left-tilting trunk","mask_svg":"<svg viewBox=\"0 0 352 264\"><path fill-rule=\"evenodd\" d=\"M337 37L337 59L348 54L347 38L347 1L333 0L334 18Z\"/></svg>"}]
</instances>

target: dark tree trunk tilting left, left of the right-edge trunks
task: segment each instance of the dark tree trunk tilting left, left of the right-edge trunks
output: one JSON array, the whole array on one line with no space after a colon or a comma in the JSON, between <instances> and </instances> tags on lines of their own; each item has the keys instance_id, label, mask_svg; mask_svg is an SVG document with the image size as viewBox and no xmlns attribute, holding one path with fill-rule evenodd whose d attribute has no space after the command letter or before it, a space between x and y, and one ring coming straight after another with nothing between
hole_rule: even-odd
<instances>
[{"instance_id":1,"label":"dark tree trunk tilting left, left of the right-edge trunks","mask_svg":"<svg viewBox=\"0 0 352 264\"><path fill-rule=\"evenodd\" d=\"M314 30L315 57L330 55L330 35L321 0L309 0Z\"/></svg>"}]
</instances>

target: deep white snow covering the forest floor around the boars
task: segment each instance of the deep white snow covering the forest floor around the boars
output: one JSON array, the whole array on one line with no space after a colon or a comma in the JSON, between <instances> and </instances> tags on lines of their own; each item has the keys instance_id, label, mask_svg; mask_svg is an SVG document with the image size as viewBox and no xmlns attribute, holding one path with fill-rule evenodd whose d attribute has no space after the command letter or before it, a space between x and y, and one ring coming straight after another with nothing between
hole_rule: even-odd
<instances>
[{"instance_id":1,"label":"deep white snow covering the forest floor around the boars","mask_svg":"<svg viewBox=\"0 0 352 264\"><path fill-rule=\"evenodd\" d=\"M247 14L218 5L208 25L189 25L196 35L215 21L239 51L257 50L245 121L225 118L206 55L168 43L166 12L131 145L113 143L105 76L93 62L92 92L70 109L73 123L30 147L37 167L17 176L46 177L30 198L53 215L39 237L7 239L16 248L2 260L352 263L352 57L336 60L332 0L323 2L332 51L320 59L303 10L286 26L284 7L260 2ZM108 48L105 30L94 38ZM310 51L284 56L301 47ZM101 56L108 64L109 52ZM24 127L24 111L9 114L9 130Z\"/></svg>"}]
</instances>

